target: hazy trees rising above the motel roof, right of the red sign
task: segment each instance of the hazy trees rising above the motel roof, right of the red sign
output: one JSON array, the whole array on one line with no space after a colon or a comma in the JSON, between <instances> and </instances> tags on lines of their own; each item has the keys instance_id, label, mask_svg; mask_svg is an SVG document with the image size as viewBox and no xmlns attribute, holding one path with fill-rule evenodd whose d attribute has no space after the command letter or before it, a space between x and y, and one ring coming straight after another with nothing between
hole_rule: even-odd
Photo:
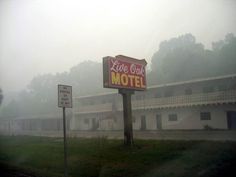
<instances>
[{"instance_id":1,"label":"hazy trees rising above the motel roof, right of the red sign","mask_svg":"<svg viewBox=\"0 0 236 177\"><path fill-rule=\"evenodd\" d=\"M212 43L206 50L195 37L185 34L163 41L152 57L149 84L162 84L235 73L236 37Z\"/></svg>"}]
</instances>

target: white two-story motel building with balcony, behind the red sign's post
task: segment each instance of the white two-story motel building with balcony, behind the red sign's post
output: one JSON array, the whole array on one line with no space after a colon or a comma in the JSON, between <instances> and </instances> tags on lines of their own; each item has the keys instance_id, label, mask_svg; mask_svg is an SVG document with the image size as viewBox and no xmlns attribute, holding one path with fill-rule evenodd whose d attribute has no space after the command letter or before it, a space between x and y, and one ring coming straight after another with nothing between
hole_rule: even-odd
<instances>
[{"instance_id":1,"label":"white two-story motel building with balcony, behind the red sign's post","mask_svg":"<svg viewBox=\"0 0 236 177\"><path fill-rule=\"evenodd\" d=\"M236 74L156 85L132 95L134 130L236 129ZM72 130L122 130L116 92L74 98Z\"/></svg>"}]
</instances>

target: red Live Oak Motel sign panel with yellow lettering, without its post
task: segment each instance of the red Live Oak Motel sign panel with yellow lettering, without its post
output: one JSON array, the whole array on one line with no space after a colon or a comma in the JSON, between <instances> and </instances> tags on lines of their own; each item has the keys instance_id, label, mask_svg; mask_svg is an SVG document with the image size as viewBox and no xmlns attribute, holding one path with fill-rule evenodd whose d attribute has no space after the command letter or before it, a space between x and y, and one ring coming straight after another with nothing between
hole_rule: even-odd
<instances>
[{"instance_id":1,"label":"red Live Oak Motel sign panel with yellow lettering, without its post","mask_svg":"<svg viewBox=\"0 0 236 177\"><path fill-rule=\"evenodd\" d=\"M106 88L146 89L146 61L123 55L103 58L103 85Z\"/></svg>"}]
</instances>

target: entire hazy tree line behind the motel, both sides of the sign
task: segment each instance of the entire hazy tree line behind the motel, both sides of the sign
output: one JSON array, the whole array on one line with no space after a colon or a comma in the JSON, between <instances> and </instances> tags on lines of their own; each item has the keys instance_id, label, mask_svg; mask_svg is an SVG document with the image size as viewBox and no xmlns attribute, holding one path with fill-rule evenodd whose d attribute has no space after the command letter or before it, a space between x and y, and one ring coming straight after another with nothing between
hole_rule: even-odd
<instances>
[{"instance_id":1,"label":"entire hazy tree line behind the motel, both sides of the sign","mask_svg":"<svg viewBox=\"0 0 236 177\"><path fill-rule=\"evenodd\" d=\"M197 43L192 34L163 41L152 57L150 68L148 86L235 73L236 37L227 34L224 40L212 43L212 50ZM57 108L58 84L72 85L74 97L106 92L102 86L102 64L85 61L69 72L33 78L27 90L2 106L0 117L57 113L60 111Z\"/></svg>"}]
</instances>

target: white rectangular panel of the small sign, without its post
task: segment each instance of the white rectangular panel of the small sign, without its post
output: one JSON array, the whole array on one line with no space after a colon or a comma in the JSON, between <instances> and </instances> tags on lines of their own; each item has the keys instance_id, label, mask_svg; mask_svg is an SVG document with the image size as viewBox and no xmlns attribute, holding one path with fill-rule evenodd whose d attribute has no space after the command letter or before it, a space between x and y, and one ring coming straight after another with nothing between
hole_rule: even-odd
<instances>
[{"instance_id":1,"label":"white rectangular panel of the small sign, without its post","mask_svg":"<svg viewBox=\"0 0 236 177\"><path fill-rule=\"evenodd\" d=\"M58 107L72 108L72 86L58 85Z\"/></svg>"}]
</instances>

